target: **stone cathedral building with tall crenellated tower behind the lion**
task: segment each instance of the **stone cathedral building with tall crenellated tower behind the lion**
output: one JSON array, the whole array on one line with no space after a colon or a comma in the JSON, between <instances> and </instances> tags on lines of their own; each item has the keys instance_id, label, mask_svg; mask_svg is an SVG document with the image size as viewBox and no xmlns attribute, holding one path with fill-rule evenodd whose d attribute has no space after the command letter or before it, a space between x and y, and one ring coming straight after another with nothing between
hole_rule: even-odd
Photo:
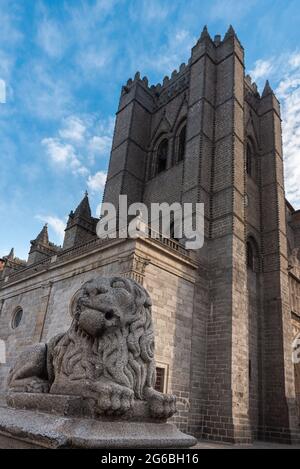
<instances>
[{"instance_id":1,"label":"stone cathedral building with tall crenellated tower behind the lion","mask_svg":"<svg viewBox=\"0 0 300 469\"><path fill-rule=\"evenodd\" d=\"M64 244L47 227L27 262L0 260L0 392L16 354L65 331L69 304L93 278L123 275L149 291L157 388L177 396L174 422L198 437L300 441L300 211L285 198L280 105L245 76L232 27L204 28L162 84L122 87L104 201L202 202L205 240L101 240L86 194Z\"/></svg>"}]
</instances>

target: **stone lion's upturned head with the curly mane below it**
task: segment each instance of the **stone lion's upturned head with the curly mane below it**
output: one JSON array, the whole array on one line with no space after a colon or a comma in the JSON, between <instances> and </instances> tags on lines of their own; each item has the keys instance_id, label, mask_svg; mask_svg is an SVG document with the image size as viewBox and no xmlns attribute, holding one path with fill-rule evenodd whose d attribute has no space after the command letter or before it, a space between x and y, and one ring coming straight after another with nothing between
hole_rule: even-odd
<instances>
[{"instance_id":1,"label":"stone lion's upturned head with the curly mane below it","mask_svg":"<svg viewBox=\"0 0 300 469\"><path fill-rule=\"evenodd\" d=\"M155 382L151 299L145 288L122 277L86 282L71 304L73 325L98 343L103 374L142 398Z\"/></svg>"}]
</instances>

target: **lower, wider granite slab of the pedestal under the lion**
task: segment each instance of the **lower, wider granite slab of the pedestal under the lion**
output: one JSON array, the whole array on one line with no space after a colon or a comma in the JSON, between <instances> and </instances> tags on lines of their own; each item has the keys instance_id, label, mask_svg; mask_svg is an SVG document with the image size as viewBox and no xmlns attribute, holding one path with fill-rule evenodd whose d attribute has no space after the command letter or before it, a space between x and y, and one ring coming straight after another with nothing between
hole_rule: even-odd
<instances>
[{"instance_id":1,"label":"lower, wider granite slab of the pedestal under the lion","mask_svg":"<svg viewBox=\"0 0 300 469\"><path fill-rule=\"evenodd\" d=\"M188 448L197 440L173 424L63 417L0 408L0 448Z\"/></svg>"}]
</instances>

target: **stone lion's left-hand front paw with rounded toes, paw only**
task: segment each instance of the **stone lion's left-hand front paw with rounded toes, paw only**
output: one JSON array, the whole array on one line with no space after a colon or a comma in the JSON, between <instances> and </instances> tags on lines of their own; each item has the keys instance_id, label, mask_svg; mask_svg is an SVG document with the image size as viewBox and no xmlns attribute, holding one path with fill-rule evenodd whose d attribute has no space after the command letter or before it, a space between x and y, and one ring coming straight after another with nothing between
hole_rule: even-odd
<instances>
[{"instance_id":1,"label":"stone lion's left-hand front paw with rounded toes, paw only","mask_svg":"<svg viewBox=\"0 0 300 469\"><path fill-rule=\"evenodd\" d=\"M122 415L133 407L134 393L131 389L122 387L104 388L97 401L100 414Z\"/></svg>"}]
</instances>

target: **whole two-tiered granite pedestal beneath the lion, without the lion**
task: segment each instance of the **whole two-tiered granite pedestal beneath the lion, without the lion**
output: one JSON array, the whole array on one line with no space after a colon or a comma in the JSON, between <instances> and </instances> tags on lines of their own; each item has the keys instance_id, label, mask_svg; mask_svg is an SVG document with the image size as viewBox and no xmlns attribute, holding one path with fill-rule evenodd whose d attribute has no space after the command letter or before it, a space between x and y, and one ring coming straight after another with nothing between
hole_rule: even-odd
<instances>
[{"instance_id":1,"label":"whole two-tiered granite pedestal beneath the lion, without the lion","mask_svg":"<svg viewBox=\"0 0 300 469\"><path fill-rule=\"evenodd\" d=\"M7 400L14 408L0 408L0 448L188 448L197 443L174 424L145 420L143 401L125 420L95 418L92 401L77 396L13 393Z\"/></svg>"}]
</instances>

